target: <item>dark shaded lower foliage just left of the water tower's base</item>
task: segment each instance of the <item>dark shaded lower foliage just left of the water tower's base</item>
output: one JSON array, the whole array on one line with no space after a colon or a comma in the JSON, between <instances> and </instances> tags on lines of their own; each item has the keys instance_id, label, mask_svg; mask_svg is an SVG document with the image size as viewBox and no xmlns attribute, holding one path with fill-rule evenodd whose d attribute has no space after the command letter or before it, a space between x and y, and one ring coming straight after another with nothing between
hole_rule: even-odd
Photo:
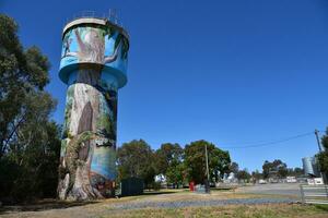
<instances>
[{"instance_id":1,"label":"dark shaded lower foliage just left of the water tower's base","mask_svg":"<svg viewBox=\"0 0 328 218\"><path fill-rule=\"evenodd\" d=\"M31 138L26 140L33 141L32 144L25 141L11 144L11 150L0 160L1 197L20 202L56 196L60 128L54 122L39 125L34 131L26 125L25 133L22 131L28 134Z\"/></svg>"}]
</instances>

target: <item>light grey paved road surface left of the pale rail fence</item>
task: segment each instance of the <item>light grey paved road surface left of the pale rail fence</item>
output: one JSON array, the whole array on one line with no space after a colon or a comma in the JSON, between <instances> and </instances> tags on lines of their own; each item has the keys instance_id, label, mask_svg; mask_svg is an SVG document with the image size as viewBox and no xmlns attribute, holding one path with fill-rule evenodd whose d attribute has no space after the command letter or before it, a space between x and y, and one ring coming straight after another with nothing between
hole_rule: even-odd
<instances>
[{"instance_id":1,"label":"light grey paved road surface left of the pale rail fence","mask_svg":"<svg viewBox=\"0 0 328 218\"><path fill-rule=\"evenodd\" d=\"M256 184L239 187L238 192L301 197L300 183Z\"/></svg>"}]
</instances>

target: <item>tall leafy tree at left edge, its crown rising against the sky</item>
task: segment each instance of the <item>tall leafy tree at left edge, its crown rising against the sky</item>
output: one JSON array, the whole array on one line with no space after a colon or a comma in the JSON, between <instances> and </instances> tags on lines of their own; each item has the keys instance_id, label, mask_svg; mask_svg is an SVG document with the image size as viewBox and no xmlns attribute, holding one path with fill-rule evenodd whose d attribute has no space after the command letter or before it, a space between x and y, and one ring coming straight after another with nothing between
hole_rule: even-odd
<instances>
[{"instance_id":1,"label":"tall leafy tree at left edge, its crown rising against the sky","mask_svg":"<svg viewBox=\"0 0 328 218\"><path fill-rule=\"evenodd\" d=\"M0 158L26 121L28 95L44 93L49 82L48 59L38 48L23 49L17 24L0 14ZM52 101L52 99L51 99Z\"/></svg>"}]
</instances>

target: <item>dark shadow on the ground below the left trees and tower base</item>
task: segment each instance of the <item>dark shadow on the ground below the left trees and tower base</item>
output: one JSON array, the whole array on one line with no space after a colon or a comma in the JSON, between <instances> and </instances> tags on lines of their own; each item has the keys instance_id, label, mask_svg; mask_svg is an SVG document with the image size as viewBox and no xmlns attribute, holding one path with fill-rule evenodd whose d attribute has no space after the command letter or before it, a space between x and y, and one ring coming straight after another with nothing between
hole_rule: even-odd
<instances>
[{"instance_id":1,"label":"dark shadow on the ground below the left trees and tower base","mask_svg":"<svg viewBox=\"0 0 328 218\"><path fill-rule=\"evenodd\" d=\"M49 209L65 209L69 207L84 206L89 204L96 204L97 201L87 202L66 202L59 199L46 199L36 203L28 203L22 205L11 205L0 207L0 215L13 211L43 211Z\"/></svg>"}]
</instances>

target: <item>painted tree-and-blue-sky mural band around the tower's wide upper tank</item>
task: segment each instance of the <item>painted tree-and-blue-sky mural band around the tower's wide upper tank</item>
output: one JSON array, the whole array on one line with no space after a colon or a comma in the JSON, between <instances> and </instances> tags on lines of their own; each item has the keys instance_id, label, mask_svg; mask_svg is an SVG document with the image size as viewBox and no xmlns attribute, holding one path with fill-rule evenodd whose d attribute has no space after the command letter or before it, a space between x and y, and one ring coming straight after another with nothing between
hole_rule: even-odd
<instances>
[{"instance_id":1,"label":"painted tree-and-blue-sky mural band around the tower's wide upper tank","mask_svg":"<svg viewBox=\"0 0 328 218\"><path fill-rule=\"evenodd\" d=\"M114 27L77 27L63 36L60 68L77 62L92 62L126 73L128 49L127 38Z\"/></svg>"}]
</instances>

